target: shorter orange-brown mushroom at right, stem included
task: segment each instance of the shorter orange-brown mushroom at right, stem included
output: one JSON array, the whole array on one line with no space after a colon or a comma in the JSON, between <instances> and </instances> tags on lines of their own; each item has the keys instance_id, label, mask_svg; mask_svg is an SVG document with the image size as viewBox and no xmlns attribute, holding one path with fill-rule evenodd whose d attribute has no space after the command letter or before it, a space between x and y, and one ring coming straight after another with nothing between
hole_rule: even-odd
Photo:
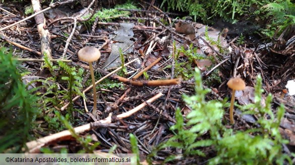
<instances>
[{"instance_id":1,"label":"shorter orange-brown mushroom at right, stem included","mask_svg":"<svg viewBox=\"0 0 295 165\"><path fill-rule=\"evenodd\" d=\"M229 107L229 119L230 123L234 124L233 120L233 102L234 102L234 93L236 90L244 90L246 88L245 81L241 78L232 78L227 82L228 88L232 89L231 100L230 100L230 107Z\"/></svg>"}]
</instances>

